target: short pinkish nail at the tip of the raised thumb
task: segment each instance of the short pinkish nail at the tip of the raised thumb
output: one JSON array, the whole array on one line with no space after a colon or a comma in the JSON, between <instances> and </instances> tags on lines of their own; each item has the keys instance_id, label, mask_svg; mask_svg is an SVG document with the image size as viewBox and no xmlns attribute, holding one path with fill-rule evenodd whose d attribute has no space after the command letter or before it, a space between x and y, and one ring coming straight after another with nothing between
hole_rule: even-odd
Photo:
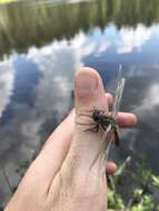
<instances>
[{"instance_id":1,"label":"short pinkish nail at the tip of the raised thumb","mask_svg":"<svg viewBox=\"0 0 159 211\"><path fill-rule=\"evenodd\" d=\"M78 93L86 93L98 89L98 78L92 72L81 71L76 78Z\"/></svg>"}]
</instances>

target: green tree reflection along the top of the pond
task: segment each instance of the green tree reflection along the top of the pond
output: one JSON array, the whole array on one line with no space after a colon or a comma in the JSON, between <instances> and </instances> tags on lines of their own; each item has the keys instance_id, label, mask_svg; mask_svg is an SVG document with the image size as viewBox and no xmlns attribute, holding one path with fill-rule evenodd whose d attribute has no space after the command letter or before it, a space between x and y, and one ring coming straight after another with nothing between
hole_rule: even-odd
<instances>
[{"instance_id":1,"label":"green tree reflection along the top of the pond","mask_svg":"<svg viewBox=\"0 0 159 211\"><path fill-rule=\"evenodd\" d=\"M12 50L24 52L30 46L43 46L53 39L70 39L79 30L113 22L136 28L159 20L159 1L98 0L73 4L12 3L0 7L0 56Z\"/></svg>"}]
</instances>

